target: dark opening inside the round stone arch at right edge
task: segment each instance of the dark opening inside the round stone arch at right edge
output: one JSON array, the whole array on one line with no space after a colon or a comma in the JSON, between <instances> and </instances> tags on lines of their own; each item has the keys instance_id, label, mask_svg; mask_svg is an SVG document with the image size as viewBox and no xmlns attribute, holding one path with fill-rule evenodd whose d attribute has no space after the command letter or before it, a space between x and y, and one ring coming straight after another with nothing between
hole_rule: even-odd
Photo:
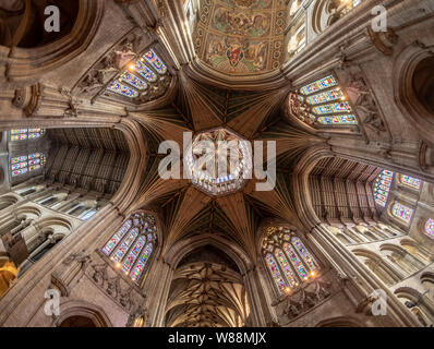
<instances>
[{"instance_id":1,"label":"dark opening inside the round stone arch at right edge","mask_svg":"<svg viewBox=\"0 0 434 349\"><path fill-rule=\"evenodd\" d=\"M412 84L419 103L434 115L434 57L419 62L414 70Z\"/></svg>"}]
</instances>

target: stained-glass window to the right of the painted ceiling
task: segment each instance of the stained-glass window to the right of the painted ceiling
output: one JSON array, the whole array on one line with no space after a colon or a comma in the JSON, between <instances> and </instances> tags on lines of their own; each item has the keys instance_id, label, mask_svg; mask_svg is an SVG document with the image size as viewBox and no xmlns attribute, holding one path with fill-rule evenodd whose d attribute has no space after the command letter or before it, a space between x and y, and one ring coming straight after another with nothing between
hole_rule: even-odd
<instances>
[{"instance_id":1,"label":"stained-glass window to the right of the painted ceiling","mask_svg":"<svg viewBox=\"0 0 434 349\"><path fill-rule=\"evenodd\" d=\"M354 125L358 123L347 97L337 80L328 75L305 85L299 91L299 100L304 104L308 124Z\"/></svg>"}]
</instances>

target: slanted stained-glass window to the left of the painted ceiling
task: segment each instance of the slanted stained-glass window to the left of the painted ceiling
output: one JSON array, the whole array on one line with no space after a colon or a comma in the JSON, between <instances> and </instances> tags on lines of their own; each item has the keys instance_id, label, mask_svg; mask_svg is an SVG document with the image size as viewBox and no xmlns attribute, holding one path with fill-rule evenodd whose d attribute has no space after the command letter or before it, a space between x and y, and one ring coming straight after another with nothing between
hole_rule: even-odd
<instances>
[{"instance_id":1,"label":"slanted stained-glass window to the left of the painted ceiling","mask_svg":"<svg viewBox=\"0 0 434 349\"><path fill-rule=\"evenodd\" d=\"M107 86L107 91L122 95L130 99L137 98L142 94L152 94L156 86L158 75L165 75L167 67L157 53L149 49ZM164 77L160 77L164 80Z\"/></svg>"}]
</instances>

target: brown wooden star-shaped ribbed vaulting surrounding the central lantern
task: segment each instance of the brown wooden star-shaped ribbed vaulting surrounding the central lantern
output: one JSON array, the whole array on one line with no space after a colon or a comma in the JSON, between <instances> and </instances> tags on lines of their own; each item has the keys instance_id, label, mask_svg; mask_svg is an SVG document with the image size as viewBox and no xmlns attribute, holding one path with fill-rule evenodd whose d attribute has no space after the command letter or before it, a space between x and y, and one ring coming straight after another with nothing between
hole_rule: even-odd
<instances>
[{"instance_id":1,"label":"brown wooden star-shaped ribbed vaulting surrounding the central lantern","mask_svg":"<svg viewBox=\"0 0 434 349\"><path fill-rule=\"evenodd\" d=\"M253 256L261 219L278 216L297 222L291 168L306 149L323 141L284 120L281 107L287 93L285 88L272 93L226 91L203 85L181 72L178 92L170 104L132 112L145 130L149 155L134 207L154 207L161 213L167 234L165 249L189 234L213 231L225 234ZM236 131L249 141L277 141L274 191L256 191L256 180L252 179L239 192L213 197L186 179L159 177L158 164L162 156L157 153L161 141L172 140L182 145L183 132L196 133L216 127Z\"/></svg>"}]
</instances>

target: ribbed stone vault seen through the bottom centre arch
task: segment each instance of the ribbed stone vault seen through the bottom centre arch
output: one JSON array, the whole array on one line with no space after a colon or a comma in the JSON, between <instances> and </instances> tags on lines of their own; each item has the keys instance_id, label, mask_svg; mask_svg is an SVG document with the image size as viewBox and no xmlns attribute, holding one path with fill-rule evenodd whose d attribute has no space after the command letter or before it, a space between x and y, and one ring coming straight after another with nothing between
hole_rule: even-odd
<instances>
[{"instance_id":1,"label":"ribbed stone vault seen through the bottom centre arch","mask_svg":"<svg viewBox=\"0 0 434 349\"><path fill-rule=\"evenodd\" d=\"M241 327L250 314L240 274L222 264L179 267L167 303L166 326Z\"/></svg>"}]
</instances>

